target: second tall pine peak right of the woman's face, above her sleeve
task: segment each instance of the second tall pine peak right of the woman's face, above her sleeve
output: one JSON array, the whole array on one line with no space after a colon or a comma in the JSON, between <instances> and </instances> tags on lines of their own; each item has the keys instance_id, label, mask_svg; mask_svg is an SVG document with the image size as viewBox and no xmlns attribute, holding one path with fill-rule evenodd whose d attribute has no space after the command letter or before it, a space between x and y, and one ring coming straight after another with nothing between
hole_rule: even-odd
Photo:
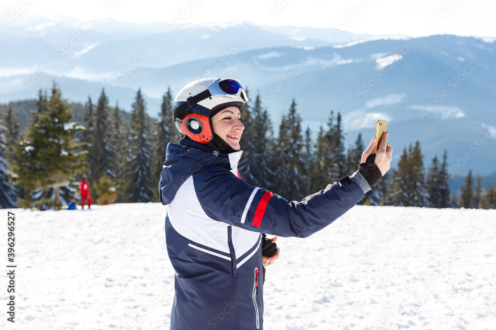
<instances>
[{"instance_id":1,"label":"second tall pine peak right of the woman's face, above her sleeve","mask_svg":"<svg viewBox=\"0 0 496 330\"><path fill-rule=\"evenodd\" d=\"M287 199L299 200L304 197L308 183L304 171L301 118L296 111L294 99L288 114L283 116L276 145L279 162L276 171L279 179L277 186L280 191L283 191Z\"/></svg>"}]
</instances>

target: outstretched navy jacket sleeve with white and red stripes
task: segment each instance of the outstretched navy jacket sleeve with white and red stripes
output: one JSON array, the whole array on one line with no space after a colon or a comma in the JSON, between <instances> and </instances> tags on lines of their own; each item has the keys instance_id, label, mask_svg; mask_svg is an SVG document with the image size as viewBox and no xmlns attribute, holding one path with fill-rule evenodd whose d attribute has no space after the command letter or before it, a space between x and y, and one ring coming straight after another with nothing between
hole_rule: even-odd
<instances>
[{"instance_id":1,"label":"outstretched navy jacket sleeve with white and red stripes","mask_svg":"<svg viewBox=\"0 0 496 330\"><path fill-rule=\"evenodd\" d=\"M352 177L363 179L360 176L355 172ZM360 180L346 176L301 202L288 202L270 191L250 187L218 166L193 176L196 196L208 217L249 231L283 237L310 236L342 216L365 196L356 181Z\"/></svg>"}]
</instances>

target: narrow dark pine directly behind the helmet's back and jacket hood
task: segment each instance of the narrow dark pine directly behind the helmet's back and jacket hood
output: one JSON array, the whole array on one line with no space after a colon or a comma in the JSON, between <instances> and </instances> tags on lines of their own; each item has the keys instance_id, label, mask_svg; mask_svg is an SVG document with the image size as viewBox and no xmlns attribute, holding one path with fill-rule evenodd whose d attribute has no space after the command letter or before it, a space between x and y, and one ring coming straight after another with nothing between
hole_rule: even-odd
<instances>
[{"instance_id":1,"label":"narrow dark pine directly behind the helmet's back and jacket hood","mask_svg":"<svg viewBox=\"0 0 496 330\"><path fill-rule=\"evenodd\" d=\"M157 141L155 154L157 158L154 162L153 166L153 182L157 183L160 180L160 173L162 172L162 166L165 161L165 156L167 154L167 144L169 142L177 143L179 136L179 131L176 128L176 124L174 123L173 116L173 98L171 94L171 88L167 90L162 96L162 106L160 118L157 120L155 124L155 134L154 140ZM153 189L153 193L156 200L158 200L158 189Z\"/></svg>"}]
</instances>

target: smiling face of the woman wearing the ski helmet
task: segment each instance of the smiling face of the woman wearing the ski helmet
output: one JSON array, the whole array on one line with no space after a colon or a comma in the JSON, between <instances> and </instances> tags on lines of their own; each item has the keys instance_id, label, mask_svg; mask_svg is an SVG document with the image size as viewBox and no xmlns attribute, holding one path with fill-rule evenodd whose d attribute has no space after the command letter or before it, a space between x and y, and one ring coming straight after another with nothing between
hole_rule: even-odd
<instances>
[{"instance_id":1,"label":"smiling face of the woman wearing the ski helmet","mask_svg":"<svg viewBox=\"0 0 496 330\"><path fill-rule=\"evenodd\" d=\"M234 150L241 149L240 140L245 126L241 123L241 112L236 106L227 107L212 117L214 133L226 141Z\"/></svg>"}]
</instances>

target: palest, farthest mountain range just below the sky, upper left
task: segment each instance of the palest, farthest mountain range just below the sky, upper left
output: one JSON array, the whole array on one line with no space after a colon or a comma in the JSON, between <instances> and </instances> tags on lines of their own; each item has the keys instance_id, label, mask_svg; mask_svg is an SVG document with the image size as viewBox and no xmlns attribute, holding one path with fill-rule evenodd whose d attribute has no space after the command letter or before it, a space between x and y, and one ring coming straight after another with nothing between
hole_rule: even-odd
<instances>
[{"instance_id":1,"label":"palest, farthest mountain range just below the sky, upper left","mask_svg":"<svg viewBox=\"0 0 496 330\"><path fill-rule=\"evenodd\" d=\"M136 54L145 58L141 67L159 68L250 49L319 47L361 38L345 31L336 33L335 29L305 31L307 37L245 21L202 25L135 24L113 19L79 22L25 12L0 29L4 49L0 52L0 75L11 74L13 69L42 69L55 59L57 64L47 70L50 74L100 79L117 74Z\"/></svg>"}]
</instances>

